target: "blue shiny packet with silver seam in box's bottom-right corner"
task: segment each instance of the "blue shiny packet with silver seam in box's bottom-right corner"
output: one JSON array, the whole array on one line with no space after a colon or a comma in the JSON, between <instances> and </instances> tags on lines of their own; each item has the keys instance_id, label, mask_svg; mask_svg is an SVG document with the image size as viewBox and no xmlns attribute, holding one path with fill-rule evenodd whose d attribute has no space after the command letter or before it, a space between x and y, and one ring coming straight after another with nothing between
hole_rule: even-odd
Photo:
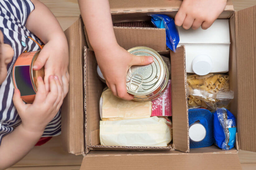
<instances>
[{"instance_id":1,"label":"blue shiny packet with silver seam in box's bottom-right corner","mask_svg":"<svg viewBox=\"0 0 256 170\"><path fill-rule=\"evenodd\" d=\"M236 119L225 108L217 108L213 114L214 143L222 150L230 150L235 145Z\"/></svg>"}]
</instances>

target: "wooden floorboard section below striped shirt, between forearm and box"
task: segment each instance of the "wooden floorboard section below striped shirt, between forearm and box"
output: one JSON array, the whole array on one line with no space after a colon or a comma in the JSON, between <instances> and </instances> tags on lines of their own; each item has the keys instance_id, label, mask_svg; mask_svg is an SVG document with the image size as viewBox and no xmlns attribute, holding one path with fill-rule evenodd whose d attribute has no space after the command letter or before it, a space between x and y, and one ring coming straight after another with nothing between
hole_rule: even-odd
<instances>
[{"instance_id":1,"label":"wooden floorboard section below striped shirt, between forearm and box","mask_svg":"<svg viewBox=\"0 0 256 170\"><path fill-rule=\"evenodd\" d=\"M83 155L69 154L61 146L61 136L55 136L46 144L35 146L14 167L81 165Z\"/></svg>"}]
</instances>

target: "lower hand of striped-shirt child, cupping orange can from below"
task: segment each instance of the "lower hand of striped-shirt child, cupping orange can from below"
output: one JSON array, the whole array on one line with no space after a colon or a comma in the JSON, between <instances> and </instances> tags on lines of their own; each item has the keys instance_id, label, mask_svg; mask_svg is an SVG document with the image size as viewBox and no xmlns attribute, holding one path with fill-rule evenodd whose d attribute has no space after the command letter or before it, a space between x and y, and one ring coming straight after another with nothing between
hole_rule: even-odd
<instances>
[{"instance_id":1,"label":"lower hand of striped-shirt child, cupping orange can from below","mask_svg":"<svg viewBox=\"0 0 256 170\"><path fill-rule=\"evenodd\" d=\"M43 133L47 124L58 113L64 92L58 76L49 77L50 92L47 94L41 77L37 78L38 88L33 104L25 104L18 89L15 89L13 103L21 118L21 126L28 132Z\"/></svg>"}]
</instances>

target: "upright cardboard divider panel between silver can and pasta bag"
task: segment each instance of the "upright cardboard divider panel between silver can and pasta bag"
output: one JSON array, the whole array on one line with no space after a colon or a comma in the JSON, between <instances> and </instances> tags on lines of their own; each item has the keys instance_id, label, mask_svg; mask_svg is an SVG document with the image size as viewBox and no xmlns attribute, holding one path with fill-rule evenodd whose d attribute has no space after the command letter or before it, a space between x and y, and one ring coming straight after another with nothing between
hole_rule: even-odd
<instances>
[{"instance_id":1,"label":"upright cardboard divider panel between silver can and pasta bag","mask_svg":"<svg viewBox=\"0 0 256 170\"><path fill-rule=\"evenodd\" d=\"M172 119L174 149L189 152L188 107L186 92L186 65L184 46L178 47L171 56Z\"/></svg>"}]
</instances>

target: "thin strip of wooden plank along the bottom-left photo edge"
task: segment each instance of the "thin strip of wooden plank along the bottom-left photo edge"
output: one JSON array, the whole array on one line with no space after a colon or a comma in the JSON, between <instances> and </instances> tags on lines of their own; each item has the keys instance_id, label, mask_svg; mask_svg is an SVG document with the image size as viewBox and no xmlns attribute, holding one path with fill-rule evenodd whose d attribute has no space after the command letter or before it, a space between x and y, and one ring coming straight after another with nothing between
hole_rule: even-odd
<instances>
[{"instance_id":1,"label":"thin strip of wooden plank along the bottom-left photo edge","mask_svg":"<svg viewBox=\"0 0 256 170\"><path fill-rule=\"evenodd\" d=\"M7 170L79 170L80 165L74 165L74 166L42 166L42 167L12 167L8 168Z\"/></svg>"}]
</instances>

